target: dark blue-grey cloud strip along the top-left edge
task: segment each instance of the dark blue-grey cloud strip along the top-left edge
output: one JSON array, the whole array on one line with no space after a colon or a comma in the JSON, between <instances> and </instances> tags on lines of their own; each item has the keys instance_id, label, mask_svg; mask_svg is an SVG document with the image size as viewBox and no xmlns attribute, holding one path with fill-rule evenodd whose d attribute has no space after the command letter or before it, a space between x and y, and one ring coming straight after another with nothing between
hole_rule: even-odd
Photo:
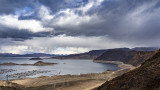
<instances>
[{"instance_id":1,"label":"dark blue-grey cloud strip along the top-left edge","mask_svg":"<svg viewBox=\"0 0 160 90\"><path fill-rule=\"evenodd\" d=\"M33 7L42 4L50 8L54 13L60 9L76 8L85 5L88 0L0 0L0 14L14 13L17 9Z\"/></svg>"}]
</instances>

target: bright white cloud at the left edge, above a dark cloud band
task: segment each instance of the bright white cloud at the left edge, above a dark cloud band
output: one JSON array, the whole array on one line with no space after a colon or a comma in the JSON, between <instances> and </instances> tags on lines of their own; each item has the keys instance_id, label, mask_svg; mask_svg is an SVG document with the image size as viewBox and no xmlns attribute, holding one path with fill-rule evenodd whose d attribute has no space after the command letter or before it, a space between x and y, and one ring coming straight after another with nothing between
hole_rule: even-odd
<instances>
[{"instance_id":1,"label":"bright white cloud at the left edge, above a dark cloud band","mask_svg":"<svg viewBox=\"0 0 160 90\"><path fill-rule=\"evenodd\" d=\"M46 32L52 30L52 28L44 27L40 21L33 19L19 20L18 16L15 15L0 16L0 24L18 30L29 30L31 32Z\"/></svg>"}]
</instances>

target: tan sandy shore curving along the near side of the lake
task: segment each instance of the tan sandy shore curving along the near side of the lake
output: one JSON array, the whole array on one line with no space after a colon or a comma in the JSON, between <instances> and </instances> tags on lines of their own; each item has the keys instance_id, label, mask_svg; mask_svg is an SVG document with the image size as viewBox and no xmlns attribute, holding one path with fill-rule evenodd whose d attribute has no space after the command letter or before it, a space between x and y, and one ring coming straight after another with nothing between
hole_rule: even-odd
<instances>
[{"instance_id":1,"label":"tan sandy shore curving along the near side of the lake","mask_svg":"<svg viewBox=\"0 0 160 90\"><path fill-rule=\"evenodd\" d=\"M25 90L91 90L103 84L106 80L111 80L134 68L121 62L112 63L118 64L121 69L102 73L42 76L38 78L10 80L9 86L23 87ZM8 84L5 82L6 81L1 81L0 85L7 86Z\"/></svg>"}]
</instances>

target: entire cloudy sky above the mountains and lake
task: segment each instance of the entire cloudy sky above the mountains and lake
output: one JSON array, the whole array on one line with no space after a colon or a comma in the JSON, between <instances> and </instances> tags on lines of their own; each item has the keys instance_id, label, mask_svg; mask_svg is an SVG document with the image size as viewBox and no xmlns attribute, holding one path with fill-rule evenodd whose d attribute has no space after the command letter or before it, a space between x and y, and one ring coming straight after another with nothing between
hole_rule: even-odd
<instances>
[{"instance_id":1,"label":"entire cloudy sky above the mountains and lake","mask_svg":"<svg viewBox=\"0 0 160 90\"><path fill-rule=\"evenodd\" d=\"M0 52L160 46L160 0L0 0Z\"/></svg>"}]
</instances>

